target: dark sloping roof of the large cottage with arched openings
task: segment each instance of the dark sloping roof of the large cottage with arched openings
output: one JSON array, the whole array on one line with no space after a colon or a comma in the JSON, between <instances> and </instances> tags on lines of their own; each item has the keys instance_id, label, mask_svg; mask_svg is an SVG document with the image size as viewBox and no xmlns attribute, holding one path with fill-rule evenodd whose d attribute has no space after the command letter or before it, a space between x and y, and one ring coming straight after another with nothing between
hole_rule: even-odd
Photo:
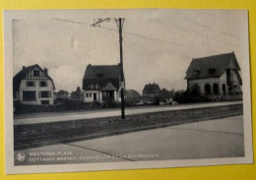
<instances>
[{"instance_id":1,"label":"dark sloping roof of the large cottage with arched openings","mask_svg":"<svg viewBox=\"0 0 256 180\"><path fill-rule=\"evenodd\" d=\"M240 67L236 61L233 52L202 57L193 59L190 63L185 79L202 79L202 78L215 78L221 77L227 68L236 69L240 71ZM214 69L214 72L210 72L210 69ZM198 71L195 73L195 71Z\"/></svg>"}]
</instances>

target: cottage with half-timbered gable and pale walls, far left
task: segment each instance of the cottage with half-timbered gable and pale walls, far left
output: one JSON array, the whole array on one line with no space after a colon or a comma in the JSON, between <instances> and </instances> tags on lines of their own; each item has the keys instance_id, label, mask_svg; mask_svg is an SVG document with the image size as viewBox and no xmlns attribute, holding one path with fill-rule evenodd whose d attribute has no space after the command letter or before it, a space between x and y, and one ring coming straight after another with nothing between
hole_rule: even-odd
<instances>
[{"instance_id":1,"label":"cottage with half-timbered gable and pale walls, far left","mask_svg":"<svg viewBox=\"0 0 256 180\"><path fill-rule=\"evenodd\" d=\"M24 66L13 78L14 100L19 100L22 104L53 104L53 90L55 90L54 83L47 69L42 70L37 64Z\"/></svg>"}]
</instances>

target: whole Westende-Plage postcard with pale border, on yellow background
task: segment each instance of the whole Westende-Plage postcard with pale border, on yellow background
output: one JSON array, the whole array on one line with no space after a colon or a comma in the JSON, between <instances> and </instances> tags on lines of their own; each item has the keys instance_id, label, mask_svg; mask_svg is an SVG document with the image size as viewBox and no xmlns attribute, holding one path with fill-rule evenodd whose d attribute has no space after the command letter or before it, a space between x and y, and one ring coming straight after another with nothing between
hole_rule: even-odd
<instances>
[{"instance_id":1,"label":"whole Westende-Plage postcard with pale border, on yellow background","mask_svg":"<svg viewBox=\"0 0 256 180\"><path fill-rule=\"evenodd\" d=\"M245 10L4 11L6 172L253 163Z\"/></svg>"}]
</instances>

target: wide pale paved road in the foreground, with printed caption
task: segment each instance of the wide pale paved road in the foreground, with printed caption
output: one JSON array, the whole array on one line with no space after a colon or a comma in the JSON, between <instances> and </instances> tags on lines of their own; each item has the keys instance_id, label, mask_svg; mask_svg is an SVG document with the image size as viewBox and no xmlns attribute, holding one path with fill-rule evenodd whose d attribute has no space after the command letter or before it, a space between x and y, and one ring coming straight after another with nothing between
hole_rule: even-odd
<instances>
[{"instance_id":1,"label":"wide pale paved road in the foreground, with printed caption","mask_svg":"<svg viewBox=\"0 0 256 180\"><path fill-rule=\"evenodd\" d=\"M195 159L244 155L243 116L22 150L23 164ZM29 153L49 152L55 160L40 161ZM57 152L59 151L59 152ZM71 154L62 153L70 151ZM20 152L20 151L16 151ZM58 155L56 155L59 153ZM59 159L66 156L70 159ZM33 162L28 160L35 159ZM21 162L20 162L21 163Z\"/></svg>"}]
</instances>

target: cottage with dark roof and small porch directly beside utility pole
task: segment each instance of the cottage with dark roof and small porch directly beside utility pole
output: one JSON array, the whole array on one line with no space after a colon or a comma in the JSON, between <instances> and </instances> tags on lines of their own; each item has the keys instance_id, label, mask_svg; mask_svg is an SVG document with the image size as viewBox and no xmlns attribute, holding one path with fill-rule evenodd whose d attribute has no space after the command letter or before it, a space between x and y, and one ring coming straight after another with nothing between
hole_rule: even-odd
<instances>
[{"instance_id":1,"label":"cottage with dark roof and small porch directly beside utility pole","mask_svg":"<svg viewBox=\"0 0 256 180\"><path fill-rule=\"evenodd\" d=\"M121 91L121 65L87 66L84 79L85 102L119 102ZM125 88L125 85L123 85Z\"/></svg>"}]
</instances>

